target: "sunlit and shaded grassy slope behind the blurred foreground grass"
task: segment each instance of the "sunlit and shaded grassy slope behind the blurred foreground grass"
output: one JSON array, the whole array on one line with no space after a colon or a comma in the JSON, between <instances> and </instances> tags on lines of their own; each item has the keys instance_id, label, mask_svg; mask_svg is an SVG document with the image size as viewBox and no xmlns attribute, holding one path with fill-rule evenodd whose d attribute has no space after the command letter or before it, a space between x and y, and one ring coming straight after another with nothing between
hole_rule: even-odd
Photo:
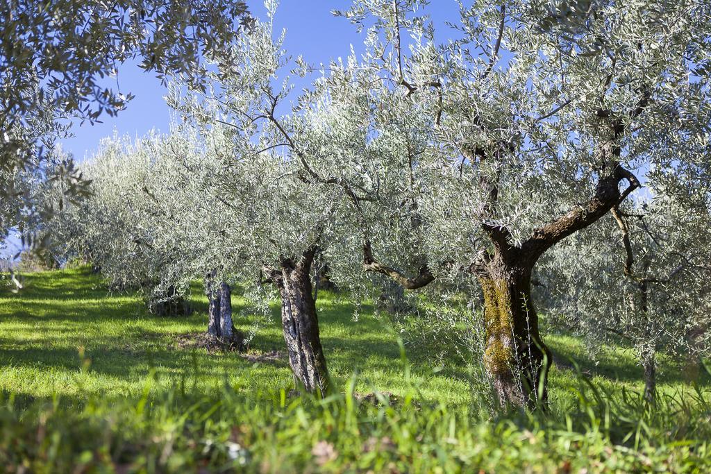
<instances>
[{"instance_id":1,"label":"sunlit and shaded grassy slope behind the blurred foreground grass","mask_svg":"<svg viewBox=\"0 0 711 474\"><path fill-rule=\"evenodd\" d=\"M0 390L29 397L134 396L141 394L152 372L158 375L153 384L157 391L185 384L192 392L209 393L223 385L225 377L247 396L291 389L285 360L253 362L234 353L177 347L177 335L205 330L207 301L198 287L194 290L192 316L158 318L146 313L136 296L107 293L86 269L26 276L20 293L0 289ZM353 321L347 303L322 294L317 303L321 339L336 380L345 383L358 372L358 392L405 392L400 348L387 320L366 311ZM282 350L276 308L274 321L260 321L239 315L243 303L233 296L237 327L248 331L258 325L252 352ZM547 341L560 359L572 358L599 384L642 387L641 369L629 350L604 348L596 364L575 338L549 334ZM466 367L450 361L444 370L437 369L416 344L407 345L407 356L422 397L447 404L469 402ZM668 361L660 372L662 389L675 388L685 379L684 370ZM571 370L553 370L552 399L567 404L572 397L563 387L572 379Z\"/></svg>"}]
</instances>

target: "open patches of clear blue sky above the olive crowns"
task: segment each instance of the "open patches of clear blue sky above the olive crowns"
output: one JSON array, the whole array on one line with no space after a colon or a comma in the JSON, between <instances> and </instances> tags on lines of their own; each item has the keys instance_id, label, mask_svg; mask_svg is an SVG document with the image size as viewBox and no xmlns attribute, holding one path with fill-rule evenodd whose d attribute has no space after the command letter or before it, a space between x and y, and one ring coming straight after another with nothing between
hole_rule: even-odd
<instances>
[{"instance_id":1,"label":"open patches of clear blue sky above the olive crowns","mask_svg":"<svg viewBox=\"0 0 711 474\"><path fill-rule=\"evenodd\" d=\"M264 18L261 1L247 1L255 16ZM286 48L289 54L302 55L310 64L327 63L331 58L348 55L351 44L359 50L363 35L355 31L345 18L331 15L332 9L346 9L348 0L282 0L277 9L277 28L286 28ZM434 6L436 4L436 6ZM432 18L442 26L445 18L456 19L456 1L434 0L428 9ZM439 39L446 38L448 28L439 28ZM97 149L100 139L116 131L121 135L142 136L151 129L169 131L171 111L164 102L166 93L155 75L144 72L137 61L119 67L116 78L107 80L109 87L119 92L131 92L135 98L117 117L103 116L101 124L74 124L73 137L61 141L63 149L82 160Z\"/></svg>"}]
</instances>

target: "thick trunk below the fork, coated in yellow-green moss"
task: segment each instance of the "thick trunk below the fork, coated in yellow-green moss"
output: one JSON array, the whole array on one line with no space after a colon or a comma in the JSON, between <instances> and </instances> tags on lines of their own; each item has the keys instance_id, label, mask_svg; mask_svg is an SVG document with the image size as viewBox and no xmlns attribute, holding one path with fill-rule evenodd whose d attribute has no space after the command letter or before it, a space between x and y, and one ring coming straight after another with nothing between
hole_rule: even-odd
<instances>
[{"instance_id":1,"label":"thick trunk below the fork, coated in yellow-green moss","mask_svg":"<svg viewBox=\"0 0 711 474\"><path fill-rule=\"evenodd\" d=\"M512 258L513 257L513 258ZM495 254L478 278L484 296L484 367L502 405L542 406L550 350L538 331L531 298L533 265Z\"/></svg>"}]
</instances>

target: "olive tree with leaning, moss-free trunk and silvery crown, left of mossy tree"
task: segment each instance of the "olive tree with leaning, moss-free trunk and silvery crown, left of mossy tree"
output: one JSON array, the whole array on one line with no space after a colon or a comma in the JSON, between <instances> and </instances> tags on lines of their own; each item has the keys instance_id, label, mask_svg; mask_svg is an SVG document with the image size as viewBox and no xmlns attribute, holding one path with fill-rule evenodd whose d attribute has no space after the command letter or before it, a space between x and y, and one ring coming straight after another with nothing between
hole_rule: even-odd
<instances>
[{"instance_id":1,"label":"olive tree with leaning, moss-free trunk and silvery crown, left of mossy tree","mask_svg":"<svg viewBox=\"0 0 711 474\"><path fill-rule=\"evenodd\" d=\"M208 237L209 248L197 253L209 254L215 268L228 269L247 285L274 285L296 387L322 396L330 381L311 279L317 252L328 247L338 228L341 193L304 179L298 163L265 146L268 139L253 141L228 123L203 123L209 144L203 163L183 161L178 167L187 173L183 179L195 183L194 195L222 205L216 228L228 244L198 235L200 228L186 242ZM200 174L203 178L196 180Z\"/></svg>"}]
</instances>

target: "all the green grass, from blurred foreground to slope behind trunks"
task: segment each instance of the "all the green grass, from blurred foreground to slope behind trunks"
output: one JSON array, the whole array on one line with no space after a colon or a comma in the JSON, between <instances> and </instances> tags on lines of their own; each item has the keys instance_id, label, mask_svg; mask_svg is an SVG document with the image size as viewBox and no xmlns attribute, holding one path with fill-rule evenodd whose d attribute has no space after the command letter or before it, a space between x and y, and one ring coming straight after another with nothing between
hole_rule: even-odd
<instances>
[{"instance_id":1,"label":"all the green grass, from blurred foreground to slope behind trunks","mask_svg":"<svg viewBox=\"0 0 711 474\"><path fill-rule=\"evenodd\" d=\"M403 346L387 319L337 296L319 297L321 337L338 394L293 397L279 325L253 315L249 355L181 348L205 330L195 313L156 318L139 298L109 295L85 269L27 276L0 290L0 465L8 472L247 470L456 472L711 469L707 377L685 384L661 364L658 406L643 403L634 357L604 348L592 360L568 335L545 414L492 417L456 357L433 362L428 344ZM244 305L233 298L235 309ZM367 310L368 308L366 308ZM276 311L276 310L275 310ZM276 316L276 312L274 313ZM592 379L589 383L587 379ZM682 391L683 390L683 391ZM383 392L385 394L383 394ZM375 394L364 397L365 394Z\"/></svg>"}]
</instances>

